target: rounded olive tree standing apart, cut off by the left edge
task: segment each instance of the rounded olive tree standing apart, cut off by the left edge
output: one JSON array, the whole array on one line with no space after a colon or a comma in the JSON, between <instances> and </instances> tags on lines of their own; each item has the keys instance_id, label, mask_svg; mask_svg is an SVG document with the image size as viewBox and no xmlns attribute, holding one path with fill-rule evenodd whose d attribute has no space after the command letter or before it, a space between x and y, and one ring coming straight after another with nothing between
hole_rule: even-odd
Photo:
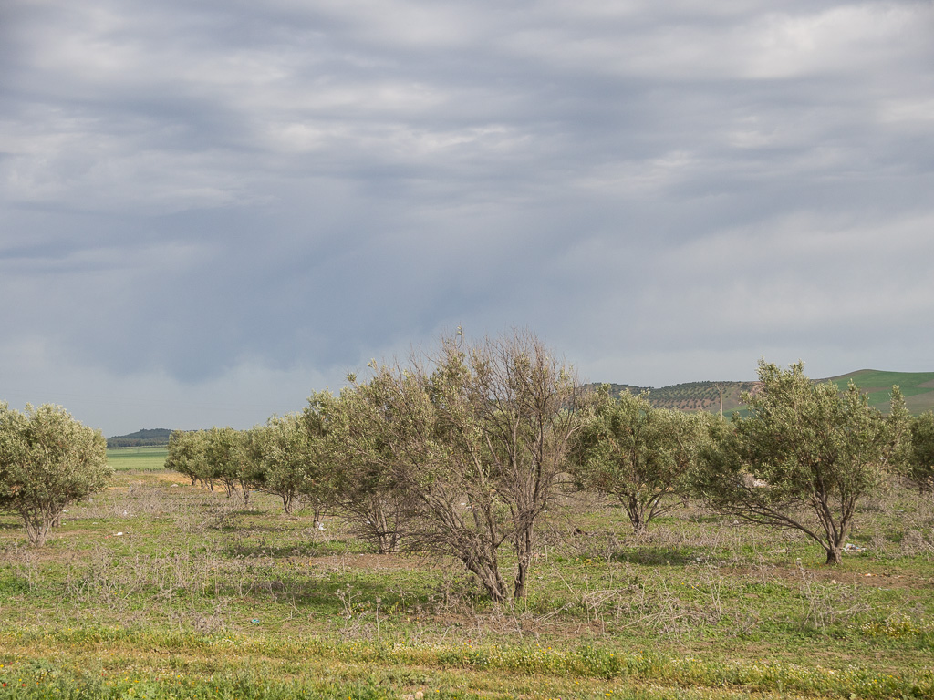
<instances>
[{"instance_id":1,"label":"rounded olive tree standing apart, cut off by the left edge","mask_svg":"<svg viewBox=\"0 0 934 700\"><path fill-rule=\"evenodd\" d=\"M103 488L106 440L61 406L0 403L0 509L20 515L30 543L42 546L64 508Z\"/></svg>"}]
</instances>

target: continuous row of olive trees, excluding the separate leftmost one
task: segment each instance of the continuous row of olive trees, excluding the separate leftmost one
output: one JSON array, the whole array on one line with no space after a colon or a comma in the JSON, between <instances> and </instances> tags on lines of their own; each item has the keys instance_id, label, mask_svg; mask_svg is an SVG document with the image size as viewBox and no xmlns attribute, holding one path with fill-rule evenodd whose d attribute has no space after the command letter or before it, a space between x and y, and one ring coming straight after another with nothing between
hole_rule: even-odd
<instances>
[{"instance_id":1,"label":"continuous row of olive trees, excluding the separate leftmost one","mask_svg":"<svg viewBox=\"0 0 934 700\"><path fill-rule=\"evenodd\" d=\"M893 387L884 415L800 364L761 362L749 413L732 422L585 391L529 333L473 344L459 333L370 369L262 427L176 432L166 467L245 499L276 494L287 512L300 499L316 519L339 511L381 553L449 554L496 600L525 595L536 525L565 484L616 498L637 532L701 498L798 529L833 564L860 500L896 478L931 486L934 414L913 418Z\"/></svg>"}]
</instances>

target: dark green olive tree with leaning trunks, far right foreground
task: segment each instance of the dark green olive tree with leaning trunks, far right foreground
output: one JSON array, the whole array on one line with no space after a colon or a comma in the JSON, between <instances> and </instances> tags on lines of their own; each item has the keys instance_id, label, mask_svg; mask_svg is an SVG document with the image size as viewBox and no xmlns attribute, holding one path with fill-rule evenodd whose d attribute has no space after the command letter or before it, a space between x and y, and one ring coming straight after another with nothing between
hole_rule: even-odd
<instances>
[{"instance_id":1,"label":"dark green olive tree with leaning trunks, far right foreground","mask_svg":"<svg viewBox=\"0 0 934 700\"><path fill-rule=\"evenodd\" d=\"M759 385L695 471L701 496L747 521L796 529L820 543L828 564L842 547L863 497L884 488L895 470L904 411L892 389L889 417L870 407L852 383L814 384L799 362L783 371L764 360Z\"/></svg>"}]
</instances>

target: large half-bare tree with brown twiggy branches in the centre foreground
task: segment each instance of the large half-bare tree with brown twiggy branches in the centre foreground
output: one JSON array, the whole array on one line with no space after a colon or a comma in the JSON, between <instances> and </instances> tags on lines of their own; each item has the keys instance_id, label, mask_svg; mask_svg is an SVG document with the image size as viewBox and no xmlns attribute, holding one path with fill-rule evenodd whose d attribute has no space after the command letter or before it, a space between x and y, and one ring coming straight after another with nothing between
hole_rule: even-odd
<instances>
[{"instance_id":1,"label":"large half-bare tree with brown twiggy branches in the centre foreground","mask_svg":"<svg viewBox=\"0 0 934 700\"><path fill-rule=\"evenodd\" d=\"M360 406L345 454L365 457L404 504L404 546L460 559L494 600L523 597L535 525L584 421L573 372L529 333L473 346L459 334L407 366L372 367L342 394Z\"/></svg>"}]
</instances>

